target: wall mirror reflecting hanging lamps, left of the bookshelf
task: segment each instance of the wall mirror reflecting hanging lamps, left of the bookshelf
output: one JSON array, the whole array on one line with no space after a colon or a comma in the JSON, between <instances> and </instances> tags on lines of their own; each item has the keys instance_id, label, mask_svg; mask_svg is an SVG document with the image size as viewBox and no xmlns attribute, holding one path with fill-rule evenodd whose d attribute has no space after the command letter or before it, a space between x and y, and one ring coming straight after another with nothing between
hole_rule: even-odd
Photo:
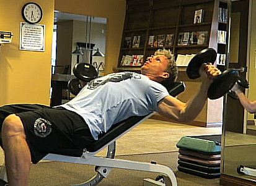
<instances>
[{"instance_id":1,"label":"wall mirror reflecting hanging lamps, left of the bookshelf","mask_svg":"<svg viewBox=\"0 0 256 186\"><path fill-rule=\"evenodd\" d=\"M105 18L55 11L54 72L73 74L74 64L84 62L93 64L99 69L100 75L104 75L106 26ZM76 49L81 51L81 54L71 55Z\"/></svg>"}]
</instances>

